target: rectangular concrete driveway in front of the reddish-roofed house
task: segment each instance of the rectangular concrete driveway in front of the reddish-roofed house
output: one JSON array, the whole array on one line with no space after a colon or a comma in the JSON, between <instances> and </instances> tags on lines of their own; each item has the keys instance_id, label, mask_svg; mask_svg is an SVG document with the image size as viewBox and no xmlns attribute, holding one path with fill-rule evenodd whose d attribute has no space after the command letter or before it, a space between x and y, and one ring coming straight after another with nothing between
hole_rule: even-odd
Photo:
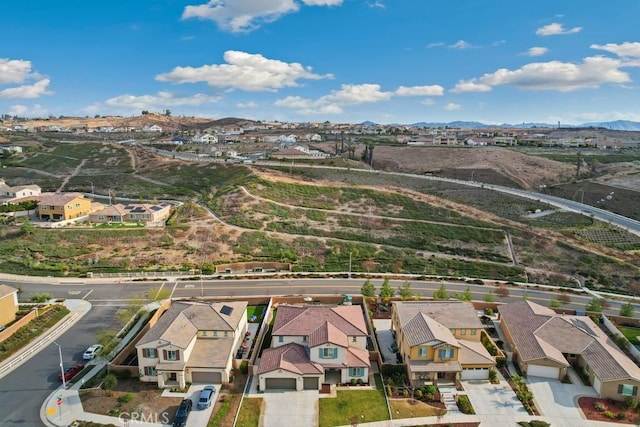
<instances>
[{"instance_id":1,"label":"rectangular concrete driveway in front of the reddish-roofed house","mask_svg":"<svg viewBox=\"0 0 640 427\"><path fill-rule=\"evenodd\" d=\"M262 394L265 404L262 415L263 427L318 425L317 390L304 391L265 391Z\"/></svg>"}]
</instances>

